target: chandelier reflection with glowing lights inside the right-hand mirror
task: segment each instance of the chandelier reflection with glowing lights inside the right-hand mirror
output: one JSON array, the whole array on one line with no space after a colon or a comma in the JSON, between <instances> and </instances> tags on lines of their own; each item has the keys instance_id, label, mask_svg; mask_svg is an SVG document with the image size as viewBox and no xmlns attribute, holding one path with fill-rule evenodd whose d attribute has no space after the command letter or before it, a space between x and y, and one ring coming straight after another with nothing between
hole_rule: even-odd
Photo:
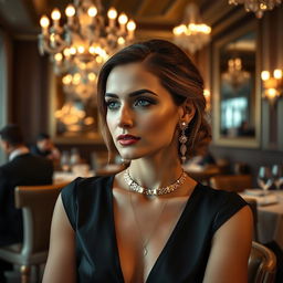
<instances>
[{"instance_id":1,"label":"chandelier reflection with glowing lights inside the right-hand mirror","mask_svg":"<svg viewBox=\"0 0 283 283\"><path fill-rule=\"evenodd\" d=\"M222 78L237 91L250 78L250 73L242 70L240 57L232 57L228 60L228 72L223 73Z\"/></svg>"}]
</instances>

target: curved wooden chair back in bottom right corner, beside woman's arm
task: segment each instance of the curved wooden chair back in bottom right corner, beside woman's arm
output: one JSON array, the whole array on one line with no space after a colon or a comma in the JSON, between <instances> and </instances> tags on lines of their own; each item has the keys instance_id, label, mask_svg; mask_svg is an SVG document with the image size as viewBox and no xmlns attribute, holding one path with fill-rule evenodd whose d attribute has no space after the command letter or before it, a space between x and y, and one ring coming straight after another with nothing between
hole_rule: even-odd
<instances>
[{"instance_id":1,"label":"curved wooden chair back in bottom right corner, beside woman's arm","mask_svg":"<svg viewBox=\"0 0 283 283\"><path fill-rule=\"evenodd\" d=\"M249 258L249 283L273 283L276 272L276 258L266 247L252 242Z\"/></svg>"}]
</instances>

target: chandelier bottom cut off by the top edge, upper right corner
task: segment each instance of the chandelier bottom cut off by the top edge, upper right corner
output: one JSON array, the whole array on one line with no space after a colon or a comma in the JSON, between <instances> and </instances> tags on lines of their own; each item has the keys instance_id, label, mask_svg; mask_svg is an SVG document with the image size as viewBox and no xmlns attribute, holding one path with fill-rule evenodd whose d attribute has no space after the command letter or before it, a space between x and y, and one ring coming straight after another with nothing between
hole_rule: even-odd
<instances>
[{"instance_id":1,"label":"chandelier bottom cut off by the top edge, upper right corner","mask_svg":"<svg viewBox=\"0 0 283 283\"><path fill-rule=\"evenodd\" d=\"M263 12L272 10L282 0L229 0L229 4L244 4L247 12L254 12L258 18L262 18Z\"/></svg>"}]
</instances>

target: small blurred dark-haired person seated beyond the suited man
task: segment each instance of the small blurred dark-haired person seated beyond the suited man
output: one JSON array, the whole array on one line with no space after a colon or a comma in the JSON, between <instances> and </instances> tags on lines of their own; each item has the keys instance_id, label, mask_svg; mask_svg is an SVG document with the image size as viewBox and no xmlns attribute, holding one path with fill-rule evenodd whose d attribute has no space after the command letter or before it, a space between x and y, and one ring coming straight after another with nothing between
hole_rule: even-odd
<instances>
[{"instance_id":1,"label":"small blurred dark-haired person seated beyond the suited man","mask_svg":"<svg viewBox=\"0 0 283 283\"><path fill-rule=\"evenodd\" d=\"M36 144L31 146L31 153L52 159L53 161L60 160L60 151L52 143L48 134L41 133L36 137Z\"/></svg>"}]
</instances>

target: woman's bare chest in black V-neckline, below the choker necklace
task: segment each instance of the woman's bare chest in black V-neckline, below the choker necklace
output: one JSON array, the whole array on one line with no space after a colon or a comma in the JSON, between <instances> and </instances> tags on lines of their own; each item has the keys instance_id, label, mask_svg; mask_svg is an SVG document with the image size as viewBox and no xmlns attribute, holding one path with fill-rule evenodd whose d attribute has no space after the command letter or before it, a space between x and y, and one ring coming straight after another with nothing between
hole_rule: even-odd
<instances>
[{"instance_id":1,"label":"woman's bare chest in black V-neckline, below the choker necklace","mask_svg":"<svg viewBox=\"0 0 283 283\"><path fill-rule=\"evenodd\" d=\"M120 268L125 282L146 282L174 240L187 198L161 201L135 196L115 198L114 219Z\"/></svg>"}]
</instances>

